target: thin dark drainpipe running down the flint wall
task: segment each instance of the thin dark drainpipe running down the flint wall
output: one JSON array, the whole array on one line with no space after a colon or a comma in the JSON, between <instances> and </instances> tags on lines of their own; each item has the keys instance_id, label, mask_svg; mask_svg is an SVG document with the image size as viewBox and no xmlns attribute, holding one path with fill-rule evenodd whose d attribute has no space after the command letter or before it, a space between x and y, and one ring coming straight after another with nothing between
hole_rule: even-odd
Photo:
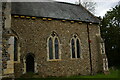
<instances>
[{"instance_id":1,"label":"thin dark drainpipe running down the flint wall","mask_svg":"<svg viewBox=\"0 0 120 80\"><path fill-rule=\"evenodd\" d=\"M92 75L92 57L91 57L91 46L90 46L90 32L89 32L89 23L87 23L87 33L88 33L88 46L89 46L89 56L90 56L90 74Z\"/></svg>"}]
</instances>

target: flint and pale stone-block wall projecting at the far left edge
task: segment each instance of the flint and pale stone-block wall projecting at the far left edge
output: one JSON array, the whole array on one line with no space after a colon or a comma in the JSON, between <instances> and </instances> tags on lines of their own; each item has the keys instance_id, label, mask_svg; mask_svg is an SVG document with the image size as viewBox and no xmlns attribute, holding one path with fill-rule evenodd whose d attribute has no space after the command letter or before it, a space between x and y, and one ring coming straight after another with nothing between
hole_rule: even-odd
<instances>
[{"instance_id":1,"label":"flint and pale stone-block wall projecting at the far left edge","mask_svg":"<svg viewBox=\"0 0 120 80\"><path fill-rule=\"evenodd\" d=\"M2 77L14 77L14 40L11 30L11 3L2 3ZM12 42L11 42L12 41Z\"/></svg>"}]
</instances>

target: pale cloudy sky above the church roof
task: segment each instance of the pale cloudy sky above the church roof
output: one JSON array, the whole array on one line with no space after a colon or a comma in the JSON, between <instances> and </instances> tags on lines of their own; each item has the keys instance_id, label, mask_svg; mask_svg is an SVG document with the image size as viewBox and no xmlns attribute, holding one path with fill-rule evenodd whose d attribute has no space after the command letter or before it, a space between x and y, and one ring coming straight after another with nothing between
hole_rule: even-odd
<instances>
[{"instance_id":1,"label":"pale cloudy sky above the church roof","mask_svg":"<svg viewBox=\"0 0 120 80\"><path fill-rule=\"evenodd\" d=\"M77 3L79 0L56 0L61 2L68 2L68 3ZM89 0L85 0L89 1ZM95 16L101 16L103 17L107 11L115 7L115 5L118 4L120 0L95 0L96 2L96 10L95 10Z\"/></svg>"}]
</instances>

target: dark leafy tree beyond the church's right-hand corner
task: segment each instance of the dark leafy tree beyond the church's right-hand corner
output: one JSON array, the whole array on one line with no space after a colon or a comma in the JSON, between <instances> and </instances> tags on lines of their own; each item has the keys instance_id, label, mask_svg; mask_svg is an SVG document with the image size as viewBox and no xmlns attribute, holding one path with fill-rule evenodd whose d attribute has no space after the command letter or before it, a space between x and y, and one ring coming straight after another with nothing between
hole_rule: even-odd
<instances>
[{"instance_id":1,"label":"dark leafy tree beyond the church's right-hand corner","mask_svg":"<svg viewBox=\"0 0 120 80\"><path fill-rule=\"evenodd\" d=\"M120 5L108 11L101 22L109 67L120 66Z\"/></svg>"}]
</instances>

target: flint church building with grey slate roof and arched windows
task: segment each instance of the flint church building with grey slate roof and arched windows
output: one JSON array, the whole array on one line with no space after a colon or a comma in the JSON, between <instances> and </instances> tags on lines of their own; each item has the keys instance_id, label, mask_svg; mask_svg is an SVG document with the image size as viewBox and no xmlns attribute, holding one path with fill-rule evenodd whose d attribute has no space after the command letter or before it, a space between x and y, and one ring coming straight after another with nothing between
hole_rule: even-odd
<instances>
[{"instance_id":1,"label":"flint church building with grey slate roof and arched windows","mask_svg":"<svg viewBox=\"0 0 120 80\"><path fill-rule=\"evenodd\" d=\"M100 20L81 4L2 3L2 77L108 72Z\"/></svg>"}]
</instances>

